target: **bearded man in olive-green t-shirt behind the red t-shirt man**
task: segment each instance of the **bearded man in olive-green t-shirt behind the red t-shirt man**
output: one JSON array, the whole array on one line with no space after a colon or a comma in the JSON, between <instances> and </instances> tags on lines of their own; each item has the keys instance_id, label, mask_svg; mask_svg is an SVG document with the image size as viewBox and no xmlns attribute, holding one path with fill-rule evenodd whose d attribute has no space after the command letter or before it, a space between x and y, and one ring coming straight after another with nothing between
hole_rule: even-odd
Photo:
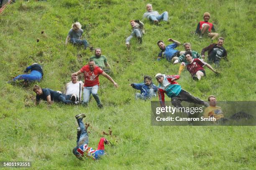
<instances>
[{"instance_id":1,"label":"bearded man in olive-green t-shirt behind the red t-shirt man","mask_svg":"<svg viewBox=\"0 0 256 170\"><path fill-rule=\"evenodd\" d=\"M101 55L100 48L95 49L95 55L90 57L90 60L94 60L95 65L100 67L107 74L111 73L110 65L108 64L107 58L105 57L105 55Z\"/></svg>"}]
</instances>

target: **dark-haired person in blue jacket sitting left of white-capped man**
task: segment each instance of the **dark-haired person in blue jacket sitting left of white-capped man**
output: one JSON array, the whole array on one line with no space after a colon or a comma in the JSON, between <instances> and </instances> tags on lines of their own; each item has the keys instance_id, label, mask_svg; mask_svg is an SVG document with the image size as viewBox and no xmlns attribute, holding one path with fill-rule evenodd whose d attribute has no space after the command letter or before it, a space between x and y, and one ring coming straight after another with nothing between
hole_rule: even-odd
<instances>
[{"instance_id":1,"label":"dark-haired person in blue jacket sitting left of white-capped man","mask_svg":"<svg viewBox=\"0 0 256 170\"><path fill-rule=\"evenodd\" d=\"M152 97L156 96L157 87L153 84L150 76L144 77L144 83L131 83L130 86L136 90L141 90L141 93L135 93L136 99L150 100Z\"/></svg>"}]
</instances>

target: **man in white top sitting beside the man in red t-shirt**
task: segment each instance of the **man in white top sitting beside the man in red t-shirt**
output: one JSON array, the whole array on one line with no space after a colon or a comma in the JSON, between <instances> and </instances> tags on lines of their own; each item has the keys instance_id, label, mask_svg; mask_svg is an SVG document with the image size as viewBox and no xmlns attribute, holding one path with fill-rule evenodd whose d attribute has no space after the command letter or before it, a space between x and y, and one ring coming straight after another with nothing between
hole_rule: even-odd
<instances>
[{"instance_id":1,"label":"man in white top sitting beside the man in red t-shirt","mask_svg":"<svg viewBox=\"0 0 256 170\"><path fill-rule=\"evenodd\" d=\"M79 101L81 100L82 90L84 89L84 83L82 81L78 81L77 76L71 75L71 82L66 84L64 94L65 95L76 95L79 97Z\"/></svg>"}]
</instances>

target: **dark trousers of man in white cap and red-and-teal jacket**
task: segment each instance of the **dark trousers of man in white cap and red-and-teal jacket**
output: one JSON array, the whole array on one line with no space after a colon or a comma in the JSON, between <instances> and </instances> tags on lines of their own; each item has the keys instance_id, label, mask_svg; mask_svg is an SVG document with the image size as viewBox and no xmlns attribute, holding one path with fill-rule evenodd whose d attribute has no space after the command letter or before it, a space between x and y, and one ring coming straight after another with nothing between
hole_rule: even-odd
<instances>
[{"instance_id":1,"label":"dark trousers of man in white cap and red-and-teal jacket","mask_svg":"<svg viewBox=\"0 0 256 170\"><path fill-rule=\"evenodd\" d=\"M175 107L183 107L181 105L182 101L205 105L205 102L203 100L198 97L192 96L189 92L183 89L179 92L179 95L172 97L172 105Z\"/></svg>"}]
</instances>

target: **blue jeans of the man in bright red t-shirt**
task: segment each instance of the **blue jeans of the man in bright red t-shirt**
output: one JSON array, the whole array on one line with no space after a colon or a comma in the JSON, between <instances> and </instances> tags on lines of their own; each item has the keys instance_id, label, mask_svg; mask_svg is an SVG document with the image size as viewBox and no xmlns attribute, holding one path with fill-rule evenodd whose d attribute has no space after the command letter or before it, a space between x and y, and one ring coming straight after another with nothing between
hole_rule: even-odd
<instances>
[{"instance_id":1,"label":"blue jeans of the man in bright red t-shirt","mask_svg":"<svg viewBox=\"0 0 256 170\"><path fill-rule=\"evenodd\" d=\"M99 98L99 95L98 95L98 89L99 89L99 86L98 85L94 85L92 87L84 87L84 104L87 105L89 100L90 100L90 95L92 94L92 96L94 97L94 99L96 100L97 102L97 105L100 105L100 98Z\"/></svg>"}]
</instances>

